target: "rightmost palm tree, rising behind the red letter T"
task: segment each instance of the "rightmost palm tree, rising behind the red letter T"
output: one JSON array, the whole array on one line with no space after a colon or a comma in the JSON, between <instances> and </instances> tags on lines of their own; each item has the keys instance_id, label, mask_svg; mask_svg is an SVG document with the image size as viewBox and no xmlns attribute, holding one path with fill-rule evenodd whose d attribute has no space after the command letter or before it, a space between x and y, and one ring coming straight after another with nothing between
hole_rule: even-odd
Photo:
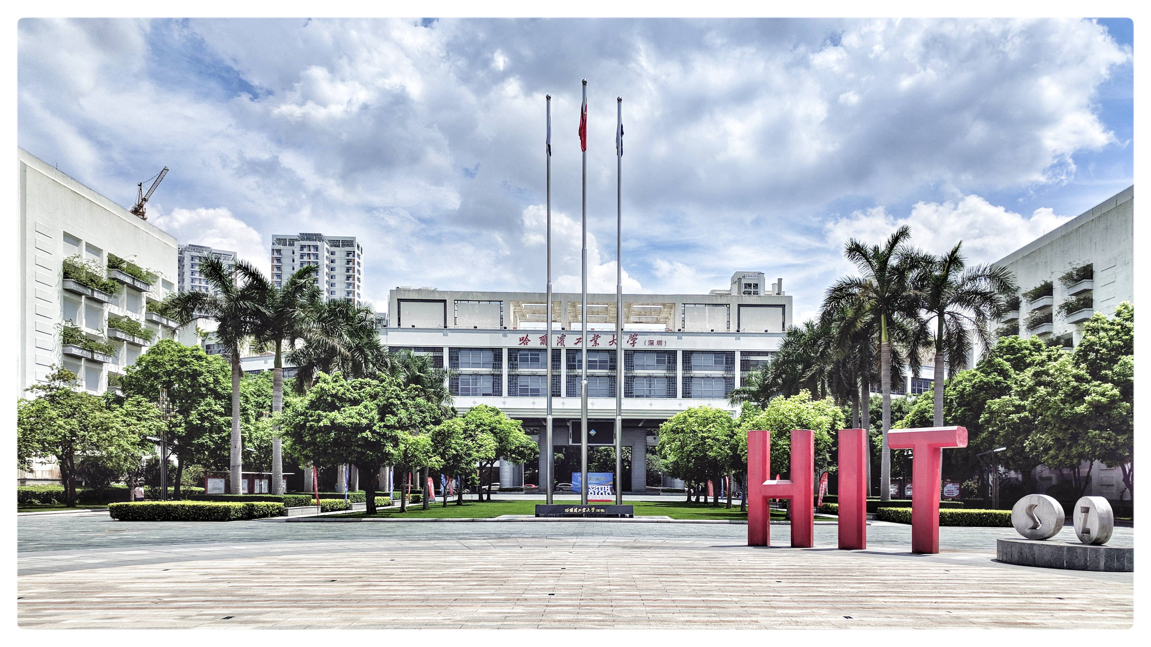
<instances>
[{"instance_id":1,"label":"rightmost palm tree, rising behind the red letter T","mask_svg":"<svg viewBox=\"0 0 1151 647\"><path fill-rule=\"evenodd\" d=\"M981 264L966 269L962 245L960 240L951 252L932 257L915 277L927 313L917 341L935 345L935 426L943 426L944 357L950 377L955 367L967 365L971 332L984 348L990 348L988 323L1007 311L1007 298L1016 290L1014 275L1007 268ZM932 322L935 331L929 332Z\"/></svg>"}]
</instances>

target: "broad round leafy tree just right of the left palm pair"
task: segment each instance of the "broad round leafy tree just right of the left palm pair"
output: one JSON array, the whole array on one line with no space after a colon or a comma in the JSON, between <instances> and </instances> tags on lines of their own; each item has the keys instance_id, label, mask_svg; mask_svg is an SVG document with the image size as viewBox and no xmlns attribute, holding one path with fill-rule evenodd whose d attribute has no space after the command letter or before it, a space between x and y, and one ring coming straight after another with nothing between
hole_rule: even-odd
<instances>
[{"instance_id":1,"label":"broad round leafy tree just right of the left palm pair","mask_svg":"<svg viewBox=\"0 0 1151 647\"><path fill-rule=\"evenodd\" d=\"M375 514L380 468L434 463L430 442L413 431L430 429L441 411L411 387L387 376L346 379L341 373L315 376L307 394L291 401L281 414L281 429L291 452L318 464L351 463L367 479L368 514ZM424 440L413 437L422 436Z\"/></svg>"}]
</instances>

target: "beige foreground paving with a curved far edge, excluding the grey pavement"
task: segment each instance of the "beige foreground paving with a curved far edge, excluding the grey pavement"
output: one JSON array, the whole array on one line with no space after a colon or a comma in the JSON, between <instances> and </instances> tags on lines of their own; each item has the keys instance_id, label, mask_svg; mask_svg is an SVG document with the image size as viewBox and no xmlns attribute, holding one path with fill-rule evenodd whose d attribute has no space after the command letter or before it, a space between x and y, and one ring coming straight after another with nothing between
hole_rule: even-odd
<instances>
[{"instance_id":1,"label":"beige foreground paving with a curved far edge, excluding the grey pavement","mask_svg":"<svg viewBox=\"0 0 1151 647\"><path fill-rule=\"evenodd\" d=\"M479 544L26 575L17 614L23 627L958 627L1054 616L1102 629L1134 617L1131 584L1055 571L694 541Z\"/></svg>"}]
</instances>

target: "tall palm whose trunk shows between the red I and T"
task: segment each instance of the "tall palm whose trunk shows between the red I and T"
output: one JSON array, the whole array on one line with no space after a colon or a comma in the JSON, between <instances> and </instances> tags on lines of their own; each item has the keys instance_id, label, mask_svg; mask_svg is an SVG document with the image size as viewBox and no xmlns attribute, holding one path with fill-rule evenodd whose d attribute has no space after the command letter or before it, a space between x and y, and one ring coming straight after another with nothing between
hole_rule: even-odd
<instances>
[{"instance_id":1,"label":"tall palm whose trunk shows between the red I and T","mask_svg":"<svg viewBox=\"0 0 1151 647\"><path fill-rule=\"evenodd\" d=\"M856 313L856 321L878 321L879 329L879 380L883 392L883 453L879 467L879 498L891 499L891 449L887 447L887 431L891 429L891 375L892 333L904 333L920 321L920 294L912 278L924 263L924 255L910 248L910 228L904 225L887 238L883 247L868 247L851 239L844 248L844 256L859 268L862 276L843 277L828 288L823 310L834 311L849 308ZM906 347L908 363L918 370L918 348L914 344Z\"/></svg>"}]
</instances>

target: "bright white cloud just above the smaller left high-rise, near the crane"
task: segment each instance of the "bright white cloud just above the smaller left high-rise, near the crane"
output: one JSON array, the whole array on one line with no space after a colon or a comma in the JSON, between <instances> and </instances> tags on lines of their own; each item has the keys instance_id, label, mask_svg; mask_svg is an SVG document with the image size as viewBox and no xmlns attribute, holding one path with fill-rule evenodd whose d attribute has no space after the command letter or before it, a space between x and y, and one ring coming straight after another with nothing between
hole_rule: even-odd
<instances>
[{"instance_id":1,"label":"bright white cloud just above the smaller left high-rise, near the crane","mask_svg":"<svg viewBox=\"0 0 1151 647\"><path fill-rule=\"evenodd\" d=\"M268 248L260 240L259 232L226 208L176 208L153 216L150 222L175 236L182 245L191 242L235 252L267 274Z\"/></svg>"}]
</instances>

